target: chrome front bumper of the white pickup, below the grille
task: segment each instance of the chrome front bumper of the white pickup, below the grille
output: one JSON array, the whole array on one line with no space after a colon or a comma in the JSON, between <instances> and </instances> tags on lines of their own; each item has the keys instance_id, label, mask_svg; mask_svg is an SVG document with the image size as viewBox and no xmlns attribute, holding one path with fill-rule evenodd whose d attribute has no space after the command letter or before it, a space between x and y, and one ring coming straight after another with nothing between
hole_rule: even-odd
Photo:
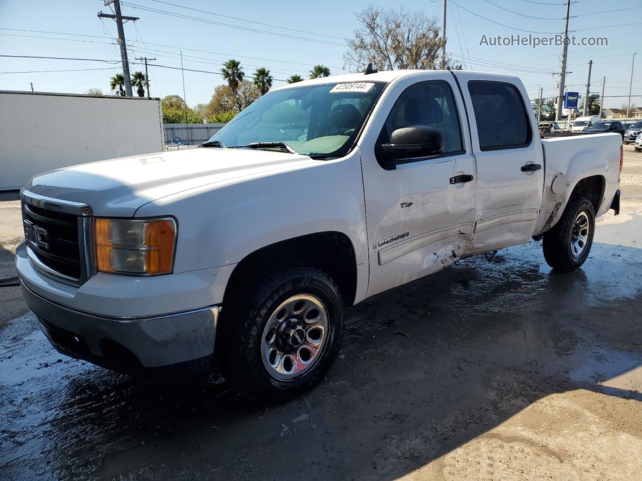
<instances>
[{"instance_id":1,"label":"chrome front bumper of the white pickup, below the grille","mask_svg":"<svg viewBox=\"0 0 642 481\"><path fill-rule=\"evenodd\" d=\"M214 353L219 306L143 319L102 317L49 301L24 283L21 287L42 332L64 355L132 371L173 366Z\"/></svg>"}]
</instances>

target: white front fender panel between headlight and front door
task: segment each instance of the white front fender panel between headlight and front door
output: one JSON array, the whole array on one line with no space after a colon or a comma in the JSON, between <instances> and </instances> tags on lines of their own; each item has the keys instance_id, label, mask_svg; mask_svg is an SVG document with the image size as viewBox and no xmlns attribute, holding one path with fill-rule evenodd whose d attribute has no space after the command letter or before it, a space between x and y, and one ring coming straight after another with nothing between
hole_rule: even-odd
<instances>
[{"instance_id":1,"label":"white front fender panel between headlight and front door","mask_svg":"<svg viewBox=\"0 0 642 481\"><path fill-rule=\"evenodd\" d=\"M367 260L358 149L338 160L181 192L136 215L178 219L175 272L230 266L270 244L328 231L347 235L358 264Z\"/></svg>"}]
</instances>

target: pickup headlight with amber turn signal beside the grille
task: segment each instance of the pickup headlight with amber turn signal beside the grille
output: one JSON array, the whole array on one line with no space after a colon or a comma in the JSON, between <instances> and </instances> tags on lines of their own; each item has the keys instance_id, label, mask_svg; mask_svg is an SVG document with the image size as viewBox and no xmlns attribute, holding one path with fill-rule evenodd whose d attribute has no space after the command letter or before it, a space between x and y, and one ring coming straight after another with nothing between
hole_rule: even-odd
<instances>
[{"instance_id":1,"label":"pickup headlight with amber turn signal beside the grille","mask_svg":"<svg viewBox=\"0 0 642 481\"><path fill-rule=\"evenodd\" d=\"M171 272L176 222L163 219L101 219L95 222L96 267L111 274Z\"/></svg>"}]
</instances>

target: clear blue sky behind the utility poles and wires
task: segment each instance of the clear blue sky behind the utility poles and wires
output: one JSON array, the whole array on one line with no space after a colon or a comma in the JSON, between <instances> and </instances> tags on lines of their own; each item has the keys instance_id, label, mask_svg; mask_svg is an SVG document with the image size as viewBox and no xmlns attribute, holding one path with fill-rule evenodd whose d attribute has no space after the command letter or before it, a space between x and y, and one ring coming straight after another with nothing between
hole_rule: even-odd
<instances>
[{"instance_id":1,"label":"clear blue sky behind the utility poles and wires","mask_svg":"<svg viewBox=\"0 0 642 481\"><path fill-rule=\"evenodd\" d=\"M122 1L123 15L140 17L135 24L125 24L131 62L136 62L134 57L146 55L157 58L152 63L180 67L179 52L182 49L186 69L219 71L221 63L233 57L241 60L246 74L252 74L256 67L267 67L275 79L282 80L295 73L307 78L309 69L316 63L328 65L333 74L341 73L342 54L346 49L343 39L351 37L352 31L358 28L354 12L369 3L390 5L370 0L167 0L178 6L153 0ZM219 15L186 10L182 8L185 6ZM422 10L441 22L441 0L406 1L403 6L407 10ZM206 22L177 18L141 7L197 17ZM544 88L544 96L554 96L558 76L551 75L551 72L559 71L561 47L499 47L480 45L480 40L482 35L527 36L527 31L562 33L565 9L564 0L449 1L447 51L453 53L455 60L465 63L466 69L519 76L532 99L537 96L538 85ZM0 74L0 90L30 90L30 82L33 82L35 90L46 92L83 93L87 89L98 88L107 93L108 79L120 71L117 62L120 56L113 40L117 37L116 24L109 19L98 19L96 14L99 10L111 13L101 0L0 0L0 28L3 29L0 30L0 54L92 58L114 62L0 57L0 72L3 72ZM607 12L609 10L621 11ZM578 37L607 37L608 46L569 47L568 70L573 72L566 80L569 89L572 86L573 90L584 94L587 62L592 59L591 92L600 93L600 82L605 76L605 106L620 107L627 102L631 58L637 51L634 97L631 102L642 106L642 42L639 40L642 1L575 1L571 3L571 17L573 15L582 16L571 18L569 31L577 30ZM547 19L542 19L544 17ZM605 26L608 28L603 28ZM62 35L65 33L76 35ZM132 71L137 69L142 70L142 66L132 65ZM65 72L4 73L53 70ZM153 96L183 96L180 70L150 67L150 80ZM186 71L187 103L193 106L209 101L214 87L221 83L218 74ZM282 82L275 81L274 85L282 85Z\"/></svg>"}]
</instances>

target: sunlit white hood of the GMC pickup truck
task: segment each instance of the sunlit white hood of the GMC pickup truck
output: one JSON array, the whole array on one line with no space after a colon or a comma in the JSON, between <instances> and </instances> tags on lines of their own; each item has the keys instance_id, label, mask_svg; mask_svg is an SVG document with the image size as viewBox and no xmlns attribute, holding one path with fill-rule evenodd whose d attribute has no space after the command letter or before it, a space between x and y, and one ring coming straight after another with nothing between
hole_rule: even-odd
<instances>
[{"instance_id":1,"label":"sunlit white hood of the GMC pickup truck","mask_svg":"<svg viewBox=\"0 0 642 481\"><path fill-rule=\"evenodd\" d=\"M83 202L94 215L131 217L144 204L205 185L300 169L322 160L278 151L198 148L73 165L33 176L26 189Z\"/></svg>"}]
</instances>

